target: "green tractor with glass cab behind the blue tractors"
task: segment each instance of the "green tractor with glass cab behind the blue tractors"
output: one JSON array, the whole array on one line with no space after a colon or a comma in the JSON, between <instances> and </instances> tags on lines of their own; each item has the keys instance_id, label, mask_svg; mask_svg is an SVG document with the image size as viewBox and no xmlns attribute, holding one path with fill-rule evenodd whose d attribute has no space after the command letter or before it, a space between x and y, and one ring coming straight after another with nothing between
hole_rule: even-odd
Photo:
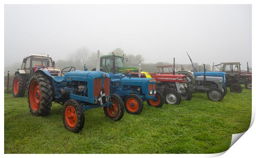
<instances>
[{"instance_id":1,"label":"green tractor with glass cab behind the blue tractors","mask_svg":"<svg viewBox=\"0 0 256 158\"><path fill-rule=\"evenodd\" d=\"M112 55L103 55L100 57L100 71L106 73L126 73L128 70L132 73L137 73L139 68L135 66L126 66L127 58L120 55L115 55L112 52ZM93 68L92 71L96 71L96 68Z\"/></svg>"}]
</instances>

